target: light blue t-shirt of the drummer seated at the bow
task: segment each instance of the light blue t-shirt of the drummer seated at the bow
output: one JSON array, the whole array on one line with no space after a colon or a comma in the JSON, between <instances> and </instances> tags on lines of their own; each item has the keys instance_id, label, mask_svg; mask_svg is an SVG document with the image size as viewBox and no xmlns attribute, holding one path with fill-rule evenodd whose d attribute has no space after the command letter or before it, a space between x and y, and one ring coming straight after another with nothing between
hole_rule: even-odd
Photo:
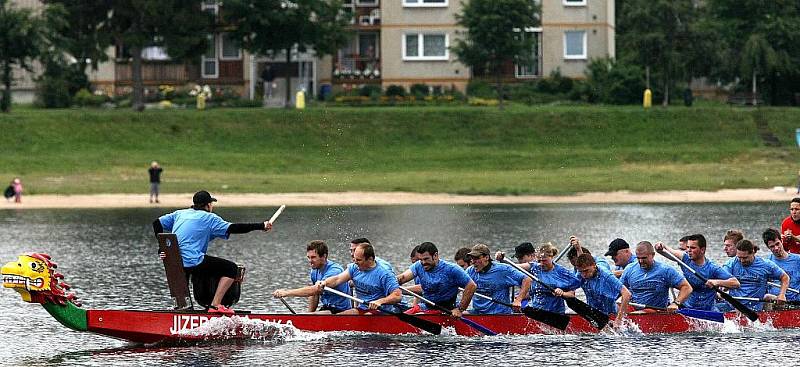
<instances>
[{"instance_id":1,"label":"light blue t-shirt of the drummer seated at the bow","mask_svg":"<svg viewBox=\"0 0 800 367\"><path fill-rule=\"evenodd\" d=\"M200 265L215 238L228 239L230 223L205 210L181 209L158 218L165 232L175 233L181 249L183 266Z\"/></svg>"}]
</instances>

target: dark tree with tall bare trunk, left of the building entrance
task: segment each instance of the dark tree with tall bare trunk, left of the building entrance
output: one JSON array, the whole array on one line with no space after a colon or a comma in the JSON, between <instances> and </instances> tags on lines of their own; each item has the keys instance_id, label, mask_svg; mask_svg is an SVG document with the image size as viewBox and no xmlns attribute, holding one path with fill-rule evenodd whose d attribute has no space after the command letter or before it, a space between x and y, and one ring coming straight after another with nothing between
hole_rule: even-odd
<instances>
[{"instance_id":1,"label":"dark tree with tall bare trunk, left of the building entrance","mask_svg":"<svg viewBox=\"0 0 800 367\"><path fill-rule=\"evenodd\" d=\"M163 47L169 57L184 60L207 48L212 17L192 0L121 0L110 2L108 18L99 28L130 51L134 110L144 109L142 50Z\"/></svg>"}]
</instances>

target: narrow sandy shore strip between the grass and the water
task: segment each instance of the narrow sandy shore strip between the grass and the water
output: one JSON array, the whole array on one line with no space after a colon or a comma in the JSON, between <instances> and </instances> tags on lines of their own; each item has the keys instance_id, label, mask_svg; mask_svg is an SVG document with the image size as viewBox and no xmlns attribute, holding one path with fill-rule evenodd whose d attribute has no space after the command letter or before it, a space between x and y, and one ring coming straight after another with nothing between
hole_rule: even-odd
<instances>
[{"instance_id":1,"label":"narrow sandy shore strip between the grass and the water","mask_svg":"<svg viewBox=\"0 0 800 367\"><path fill-rule=\"evenodd\" d=\"M218 206L348 206L414 204L583 204L583 203L702 203L788 202L794 188L737 189L720 191L592 192L576 195L451 195L409 192L338 192L282 194L214 194ZM21 204L3 201L0 209L40 208L145 208L186 207L192 194L164 194L161 203L150 204L146 194L25 195ZM788 204L787 204L788 205Z\"/></svg>"}]
</instances>

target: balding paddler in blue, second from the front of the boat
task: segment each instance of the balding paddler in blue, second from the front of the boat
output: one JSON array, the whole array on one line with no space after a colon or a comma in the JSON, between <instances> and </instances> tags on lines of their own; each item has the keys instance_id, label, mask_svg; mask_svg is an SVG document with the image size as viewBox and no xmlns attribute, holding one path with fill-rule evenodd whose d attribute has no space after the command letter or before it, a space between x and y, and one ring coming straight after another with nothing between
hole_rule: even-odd
<instances>
[{"instance_id":1,"label":"balding paddler in blue, second from the front of the boat","mask_svg":"<svg viewBox=\"0 0 800 367\"><path fill-rule=\"evenodd\" d=\"M395 306L403 298L400 285L394 273L375 261L375 250L372 245L361 243L356 246L353 251L353 261L347 265L347 271L317 282L318 289L322 291L325 287L337 287L342 283L353 281L356 296L367 304L358 305L341 314L374 313L381 306L391 308L393 312L400 312L401 310Z\"/></svg>"}]
</instances>

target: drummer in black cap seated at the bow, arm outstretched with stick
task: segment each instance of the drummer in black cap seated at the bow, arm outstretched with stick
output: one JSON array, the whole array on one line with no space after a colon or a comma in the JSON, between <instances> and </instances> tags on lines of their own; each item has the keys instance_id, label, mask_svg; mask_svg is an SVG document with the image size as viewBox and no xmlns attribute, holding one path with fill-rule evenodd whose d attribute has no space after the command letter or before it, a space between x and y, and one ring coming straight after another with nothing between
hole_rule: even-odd
<instances>
[{"instance_id":1,"label":"drummer in black cap seated at the bow, arm outstretched with stick","mask_svg":"<svg viewBox=\"0 0 800 367\"><path fill-rule=\"evenodd\" d=\"M214 202L208 191L202 190L194 194L194 205L188 209L176 210L153 221L153 231L159 233L175 233L183 260L183 270L187 275L197 274L219 277L219 285L211 301L208 312L233 314L233 310L221 304L222 297L238 276L238 266L228 260L208 256L208 244L215 238L228 239L231 233L247 233L255 230L269 232L272 223L229 223L213 213ZM163 259L165 253L159 254Z\"/></svg>"}]
</instances>

